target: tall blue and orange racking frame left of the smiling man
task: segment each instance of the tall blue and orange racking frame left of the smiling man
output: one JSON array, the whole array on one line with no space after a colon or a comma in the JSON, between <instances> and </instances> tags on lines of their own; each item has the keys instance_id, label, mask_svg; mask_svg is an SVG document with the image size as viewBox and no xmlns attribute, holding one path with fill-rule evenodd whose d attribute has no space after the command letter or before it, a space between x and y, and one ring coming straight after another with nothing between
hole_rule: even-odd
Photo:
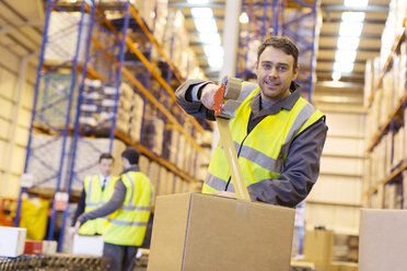
<instances>
[{"instance_id":1,"label":"tall blue and orange racking frame left of the smiling man","mask_svg":"<svg viewBox=\"0 0 407 271\"><path fill-rule=\"evenodd\" d=\"M179 176L182 179L188 182L197 182L198 179L187 173L176 164L171 161L167 161L161 157L161 154L156 154L146 148L141 141L138 142L131 139L129 136L125 134L123 131L119 131L116 128L116 119L117 119L117 110L118 110L118 101L119 101L119 89L123 82L123 78L130 82L133 86L133 91L136 93L142 94L144 101L148 101L149 104L153 105L154 110L158 110L161 116L165 117L165 120L172 125L173 129L175 128L178 130L185 139L191 144L191 146L200 153L202 156L207 156L208 154L202 149L200 143L198 143L195 139L196 133L203 132L205 129L211 128L206 121L201 121L199 123L196 119L190 117L189 115L185 114L181 107L177 106L175 102L174 91L170 86L170 80L172 78L172 73L177 79L178 83L182 81L179 72L171 62L170 58L165 56L164 51L161 49L160 44L154 39L154 36L149 31L147 25L144 24L143 20L139 15L138 11L130 4L129 1L121 1L115 4L102 4L95 5L95 1L80 1L80 3L69 3L69 2L60 2L58 0L48 0L46 7L46 17L45 17L45 25L44 25L44 33L43 33L43 43L42 43L42 50L37 70L37 80L35 86L35 97L34 97L34 106L32 113L32 122L30 128L30 139L27 144L27 156L25 162L24 173L30 172L28 167L32 164L32 161L37 161L36 165L43 166L45 169L50 170L50 176L44 177L44 179L36 179L34 186L31 188L22 187L19 196L19 207L16 211L16 217L14 221L14 225L19 224L20 213L21 213L21 200L23 192L30 192L40 195L45 193L45 197L49 197L49 191L44 192L47 189L35 189L38 185L44 182L50 181L53 179L57 179L57 184L55 185L54 192L58 191L66 191L68 193L68 199L70 198L72 191L72 184L73 181L81 181L82 179L79 178L79 174L85 172L86 169L95 166L96 163L86 165L85 167L77 167L77 163L79 163L79 146L80 143L86 145L86 148L91 148L98 153L102 152L112 152L114 149L114 140L120 140L124 143L129 145L133 145L137 148L142 154L149 157L151 161L156 162L158 164L162 165L170 172L174 173L174 179L176 176ZM119 23L121 24L121 28L118 31L115 25L112 23L111 20L106 16L106 11L115 11L116 14L120 13L121 16L119 19ZM74 33L73 36L77 37L75 42L75 49L71 56L71 59L63 59L63 61L54 61L49 62L46 61L46 54L49 54L47 49L50 46L56 46L56 44L51 44L51 36L49 33L49 28L53 27L50 25L50 17L51 13L56 12L58 14L71 14L70 12L77 12L77 19L80 20L69 22L73 25L73 30L70 30L68 34ZM79 14L79 15L78 15ZM166 64L170 67L171 72L168 72L167 80L164 80L161 74L155 71L155 67L151 63L151 60L148 59L143 55L143 52L138 49L133 45L133 40L131 40L128 36L126 36L126 31L128 30L129 22L131 16L136 20L139 24L142 32L149 37L150 42L158 48L161 57L164 59ZM117 19L115 19L117 21ZM67 17L66 21L70 21L70 17ZM66 22L65 21L65 22ZM116 22L117 23L117 22ZM71 25L70 25L71 26ZM107 43L108 45L104 44L103 42L98 40L101 36L94 36L93 32L97 31L97 33L104 37L107 37L111 42ZM58 38L63 38L67 33L58 33ZM77 35L77 36L75 36ZM106 42L106 40L105 40ZM107 40L108 42L108 40ZM57 44L58 45L58 44ZM61 47L61 46L60 46ZM141 67L146 69L148 76L146 78L137 78L137 75L132 74L132 72L124 64L124 55L125 50L130 51L133 54L139 61L141 62ZM63 51L62 49L60 51ZM55 54L58 55L57 51ZM151 54L151 52L150 52ZM96 59L100 57L104 57L108 60L109 66L103 67L101 63L96 62ZM49 83L46 82L47 74L53 74L56 72L62 72L65 78L69 78L70 84L69 90L62 90L63 96L57 97L56 101L55 96L58 95L50 95L50 97L38 97L40 87L46 87ZM159 101L159 97L154 96L146 85L150 83L150 74L154 78L160 86L162 87L159 90L163 92L165 102ZM59 75L58 75L59 76ZM107 119L98 120L97 123L93 126L85 126L81 123L81 117L83 114L82 102L84 101L84 93L86 92L86 87L90 87L88 84L91 81L86 81L89 79L97 80L101 86L97 87L113 87L115 90L114 94L114 105L113 111L111 117ZM88 83L86 83L88 82ZM95 84L95 81L92 81ZM57 86L59 87L59 86ZM96 86L95 86L96 87ZM67 89L67 87L66 87ZM101 89L105 90L105 89ZM61 90L57 90L56 93L61 92ZM88 90L89 93L94 93L93 89L91 91ZM161 94L160 94L161 95ZM47 99L48 98L48 99ZM46 110L53 109L57 113L60 111L60 103L67 103L66 111L62 111L60 115L63 115L63 122L62 123L54 123L53 117L54 114L48 114L45 117L49 118L46 119L42 116L42 114ZM39 104L38 104L39 103ZM43 103L43 104L42 104ZM94 104L91 104L94 105ZM146 104L144 104L146 105ZM98 105L97 105L98 106ZM73 116L74 115L74 116ZM146 106L143 106L143 113L146 115ZM74 121L73 121L74 120ZM186 130L184 127L185 123L190 123L191 129L189 131ZM107 130L102 129L106 127ZM62 127L62 128L61 128ZM49 137L49 140L45 140L39 145L33 145L33 138L36 134L44 134L44 137ZM108 148L102 148L93 144L91 139L93 138L107 138L109 140ZM59 141L60 149L59 149ZM57 143L56 143L57 142ZM56 168L53 168L53 165L47 164L47 161L44 161L43 154L40 150L48 150L51 144L57 144L58 149L51 150L51 155L58 157L59 163L57 164ZM178 140L178 146L181 141ZM48 149L47 149L48 148ZM49 150L48 150L49 152ZM82 153L83 154L83 153ZM179 152L176 153L177 157L179 156ZM195 157L197 157L196 155ZM55 158L53 158L55 161ZM54 161L51 161L54 163ZM95 158L96 161L96 158ZM150 165L151 166L151 165ZM161 173L161 172L160 172ZM159 173L159 175L160 175ZM175 187L175 181L172 182ZM49 189L48 189L49 190ZM49 223L49 231L48 231L48 239L54 238L55 225L57 220L57 210L56 207L53 207L53 214L51 220ZM62 216L62 224L60 229L60 236L58 241L58 250L61 250L62 243L63 243L63 231L66 225L66 219L68 216L68 208L63 210Z\"/></svg>"}]
</instances>

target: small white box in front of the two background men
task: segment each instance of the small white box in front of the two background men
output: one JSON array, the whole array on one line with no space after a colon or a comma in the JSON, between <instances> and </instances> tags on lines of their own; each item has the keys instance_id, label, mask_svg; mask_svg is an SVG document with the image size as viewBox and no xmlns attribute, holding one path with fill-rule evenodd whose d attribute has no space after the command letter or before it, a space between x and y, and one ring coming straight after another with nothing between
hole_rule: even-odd
<instances>
[{"instance_id":1,"label":"small white box in front of the two background men","mask_svg":"<svg viewBox=\"0 0 407 271\"><path fill-rule=\"evenodd\" d=\"M102 235L78 235L73 236L73 255L103 256Z\"/></svg>"}]
</instances>

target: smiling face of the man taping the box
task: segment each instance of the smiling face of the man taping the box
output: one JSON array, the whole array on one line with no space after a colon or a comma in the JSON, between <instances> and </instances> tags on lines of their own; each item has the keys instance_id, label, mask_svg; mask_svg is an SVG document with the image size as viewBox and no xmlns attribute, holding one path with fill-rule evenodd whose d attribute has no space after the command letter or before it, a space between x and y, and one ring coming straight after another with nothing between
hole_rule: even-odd
<instances>
[{"instance_id":1,"label":"smiling face of the man taping the box","mask_svg":"<svg viewBox=\"0 0 407 271\"><path fill-rule=\"evenodd\" d=\"M266 47L256 62L257 82L264 102L277 103L290 95L291 81L296 79L299 72L293 64L293 56L272 46Z\"/></svg>"}]
</instances>

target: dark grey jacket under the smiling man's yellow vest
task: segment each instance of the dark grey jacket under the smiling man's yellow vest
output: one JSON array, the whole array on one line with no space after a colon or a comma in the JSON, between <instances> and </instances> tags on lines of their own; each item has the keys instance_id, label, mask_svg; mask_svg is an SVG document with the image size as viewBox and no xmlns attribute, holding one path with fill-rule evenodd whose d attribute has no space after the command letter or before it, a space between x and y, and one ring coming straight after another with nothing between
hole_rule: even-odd
<instances>
[{"instance_id":1,"label":"dark grey jacket under the smiling man's yellow vest","mask_svg":"<svg viewBox=\"0 0 407 271\"><path fill-rule=\"evenodd\" d=\"M200 102L200 91L207 81L188 80L176 90L177 103L193 116L213 120L213 111L206 108ZM197 86L195 87L194 86ZM257 85L246 85L242 91L252 91ZM194 89L194 93L193 93ZM251 118L247 133L256 128L265 117L278 114L280 110L291 110L300 98L298 85L291 85L291 95L267 107L261 108L261 97L258 92L251 103ZM195 102L193 102L195 101ZM290 145L282 173L277 179L264 179L247 187L252 200L264 201L271 204L295 207L311 192L319 175L319 158L324 148L327 126L325 116L295 137ZM231 186L225 190L231 190Z\"/></svg>"}]
</instances>

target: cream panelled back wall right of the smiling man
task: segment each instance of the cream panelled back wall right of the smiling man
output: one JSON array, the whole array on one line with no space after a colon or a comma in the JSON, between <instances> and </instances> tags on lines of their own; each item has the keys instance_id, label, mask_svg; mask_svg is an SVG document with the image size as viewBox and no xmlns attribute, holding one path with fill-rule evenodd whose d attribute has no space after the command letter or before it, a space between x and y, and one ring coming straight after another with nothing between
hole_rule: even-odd
<instances>
[{"instance_id":1,"label":"cream panelled back wall right of the smiling man","mask_svg":"<svg viewBox=\"0 0 407 271\"><path fill-rule=\"evenodd\" d=\"M358 110L323 111L329 130L319 179L306 201L306 227L325 226L337 233L357 234L362 196L364 117Z\"/></svg>"}]
</instances>

